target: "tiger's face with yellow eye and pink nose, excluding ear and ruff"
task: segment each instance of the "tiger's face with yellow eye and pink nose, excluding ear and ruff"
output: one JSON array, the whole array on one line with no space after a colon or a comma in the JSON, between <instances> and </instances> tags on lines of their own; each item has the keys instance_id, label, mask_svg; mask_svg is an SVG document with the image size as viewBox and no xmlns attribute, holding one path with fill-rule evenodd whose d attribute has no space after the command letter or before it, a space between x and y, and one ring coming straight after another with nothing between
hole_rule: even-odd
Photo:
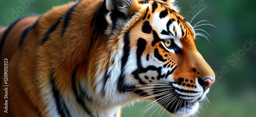
<instances>
[{"instance_id":1,"label":"tiger's face with yellow eye and pink nose, excluding ear and ruff","mask_svg":"<svg viewBox=\"0 0 256 117\"><path fill-rule=\"evenodd\" d=\"M170 1L139 3L146 10L123 35L123 78L118 87L158 102L170 113L193 114L215 81L196 49L195 31Z\"/></svg>"}]
</instances>

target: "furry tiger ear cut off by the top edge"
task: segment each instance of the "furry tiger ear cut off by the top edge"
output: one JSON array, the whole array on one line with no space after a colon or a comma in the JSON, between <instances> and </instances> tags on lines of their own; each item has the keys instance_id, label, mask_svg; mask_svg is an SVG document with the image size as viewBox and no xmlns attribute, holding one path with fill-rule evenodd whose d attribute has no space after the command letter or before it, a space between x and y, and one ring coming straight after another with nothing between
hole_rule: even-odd
<instances>
[{"instance_id":1,"label":"furry tiger ear cut off by the top edge","mask_svg":"<svg viewBox=\"0 0 256 117\"><path fill-rule=\"evenodd\" d=\"M105 0L106 9L109 11L118 10L124 14L129 14L135 8L137 0Z\"/></svg>"}]
</instances>

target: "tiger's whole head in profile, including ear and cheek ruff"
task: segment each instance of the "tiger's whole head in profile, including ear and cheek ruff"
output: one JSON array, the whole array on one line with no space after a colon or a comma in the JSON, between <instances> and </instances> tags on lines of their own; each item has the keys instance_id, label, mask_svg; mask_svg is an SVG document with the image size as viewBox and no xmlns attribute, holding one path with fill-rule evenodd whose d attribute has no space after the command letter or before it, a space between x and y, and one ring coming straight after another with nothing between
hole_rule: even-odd
<instances>
[{"instance_id":1,"label":"tiger's whole head in profile, including ear and cheek ruff","mask_svg":"<svg viewBox=\"0 0 256 117\"><path fill-rule=\"evenodd\" d=\"M215 74L196 49L193 27L178 13L174 3L103 2L100 9L106 10L98 10L96 15L104 17L95 19L97 27L107 35L104 49L110 56L104 62L106 55L97 55L98 66L106 67L106 71L97 67L96 92L103 88L105 95L112 95L116 90L119 102L155 101L177 115L198 110L198 101L205 98Z\"/></svg>"}]
</instances>

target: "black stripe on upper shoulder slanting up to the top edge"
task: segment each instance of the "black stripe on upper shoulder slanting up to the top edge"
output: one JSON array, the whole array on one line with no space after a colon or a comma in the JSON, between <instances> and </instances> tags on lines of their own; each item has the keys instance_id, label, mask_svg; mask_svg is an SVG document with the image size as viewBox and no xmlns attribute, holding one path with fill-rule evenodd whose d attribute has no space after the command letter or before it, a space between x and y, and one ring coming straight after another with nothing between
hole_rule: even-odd
<instances>
[{"instance_id":1,"label":"black stripe on upper shoulder slanting up to the top edge","mask_svg":"<svg viewBox=\"0 0 256 117\"><path fill-rule=\"evenodd\" d=\"M77 2L75 5L73 5L68 12L65 15L65 19L63 21L63 29L62 29L62 36L64 35L68 25L69 25L69 21L71 20L71 15L74 12L75 8L77 7L77 5L79 5L79 3L81 3L81 1Z\"/></svg>"}]
</instances>

